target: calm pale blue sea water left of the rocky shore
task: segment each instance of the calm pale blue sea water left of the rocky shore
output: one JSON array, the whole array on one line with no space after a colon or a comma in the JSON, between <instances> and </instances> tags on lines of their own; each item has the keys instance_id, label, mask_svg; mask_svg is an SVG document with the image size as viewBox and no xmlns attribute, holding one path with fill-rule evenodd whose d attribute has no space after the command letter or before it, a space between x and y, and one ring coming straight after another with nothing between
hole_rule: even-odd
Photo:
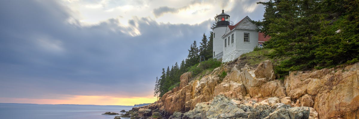
<instances>
[{"instance_id":1,"label":"calm pale blue sea water left of the rocky shore","mask_svg":"<svg viewBox=\"0 0 359 119\"><path fill-rule=\"evenodd\" d=\"M129 111L132 106L0 103L0 119L113 119L115 115L102 114L108 111L121 114L123 109Z\"/></svg>"}]
</instances>

